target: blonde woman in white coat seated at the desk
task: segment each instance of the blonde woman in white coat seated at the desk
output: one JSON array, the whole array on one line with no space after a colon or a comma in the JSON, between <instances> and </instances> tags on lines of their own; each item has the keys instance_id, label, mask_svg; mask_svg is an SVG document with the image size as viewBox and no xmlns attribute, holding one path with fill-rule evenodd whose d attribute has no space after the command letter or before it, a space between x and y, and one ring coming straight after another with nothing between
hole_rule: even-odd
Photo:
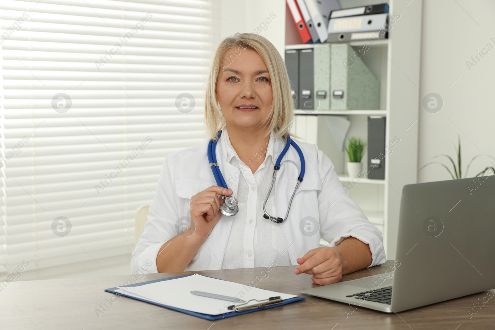
<instances>
[{"instance_id":1,"label":"blonde woman in white coat seated at the desk","mask_svg":"<svg viewBox=\"0 0 495 330\"><path fill-rule=\"evenodd\" d=\"M206 86L205 124L228 189L220 187L205 141L165 158L143 235L133 252L134 272L297 265L316 284L386 261L381 232L346 194L330 159L315 144L297 142L274 166L294 119L289 77L282 57L265 38L239 34L217 47ZM222 130L217 140L219 131ZM292 134L291 134L292 136ZM220 196L219 196L220 195ZM238 213L219 211L235 196ZM189 227L190 225L190 227ZM331 247L320 247L319 236Z\"/></svg>"}]
</instances>

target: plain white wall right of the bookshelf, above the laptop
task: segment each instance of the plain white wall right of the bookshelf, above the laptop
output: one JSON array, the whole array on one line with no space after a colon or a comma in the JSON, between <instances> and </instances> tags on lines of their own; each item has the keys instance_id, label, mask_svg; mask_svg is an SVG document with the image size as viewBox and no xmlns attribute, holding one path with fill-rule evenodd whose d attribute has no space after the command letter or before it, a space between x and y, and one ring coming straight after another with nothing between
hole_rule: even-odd
<instances>
[{"instance_id":1,"label":"plain white wall right of the bookshelf, above the laptop","mask_svg":"<svg viewBox=\"0 0 495 330\"><path fill-rule=\"evenodd\" d=\"M454 158L452 142L457 144L457 135L461 141L463 177L473 156L488 153L495 157L494 15L493 0L423 1L418 169L438 160L432 159L438 154ZM487 44L494 49L484 58L479 56L480 61L475 64L471 56ZM469 69L466 61L475 66ZM428 93L442 97L444 105L439 112L423 109L421 103ZM447 165L446 158L442 158ZM467 177L488 166L489 160L492 159L476 159ZM448 179L446 169L438 164L418 173L418 182Z\"/></svg>"}]
</instances>

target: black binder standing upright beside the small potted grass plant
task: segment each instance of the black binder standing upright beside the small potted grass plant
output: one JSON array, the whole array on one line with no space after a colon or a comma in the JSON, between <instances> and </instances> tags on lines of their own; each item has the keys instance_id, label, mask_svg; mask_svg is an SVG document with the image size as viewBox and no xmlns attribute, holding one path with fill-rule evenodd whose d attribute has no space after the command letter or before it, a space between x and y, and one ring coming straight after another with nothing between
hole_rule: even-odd
<instances>
[{"instance_id":1,"label":"black binder standing upright beside the small potted grass plant","mask_svg":"<svg viewBox=\"0 0 495 330\"><path fill-rule=\"evenodd\" d=\"M385 117L368 117L368 179L385 179Z\"/></svg>"}]
</instances>

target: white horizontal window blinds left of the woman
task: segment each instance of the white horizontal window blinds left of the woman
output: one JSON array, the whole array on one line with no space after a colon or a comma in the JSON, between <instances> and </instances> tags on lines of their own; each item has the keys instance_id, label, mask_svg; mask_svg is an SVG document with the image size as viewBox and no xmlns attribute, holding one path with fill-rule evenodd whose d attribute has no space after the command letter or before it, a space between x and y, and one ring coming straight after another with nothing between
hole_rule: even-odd
<instances>
[{"instance_id":1,"label":"white horizontal window blinds left of the woman","mask_svg":"<svg viewBox=\"0 0 495 330\"><path fill-rule=\"evenodd\" d=\"M1 281L130 271L165 156L206 138L212 10L0 1Z\"/></svg>"}]
</instances>

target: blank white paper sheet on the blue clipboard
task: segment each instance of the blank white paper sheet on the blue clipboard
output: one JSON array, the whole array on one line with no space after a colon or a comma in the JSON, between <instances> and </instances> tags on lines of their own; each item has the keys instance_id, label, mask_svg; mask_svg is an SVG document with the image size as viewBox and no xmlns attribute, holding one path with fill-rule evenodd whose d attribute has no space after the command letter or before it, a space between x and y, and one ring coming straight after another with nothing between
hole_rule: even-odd
<instances>
[{"instance_id":1,"label":"blank white paper sheet on the blue clipboard","mask_svg":"<svg viewBox=\"0 0 495 330\"><path fill-rule=\"evenodd\" d=\"M220 315L231 312L227 307L234 303L226 300L197 296L191 293L194 290L238 297L246 301L249 299L263 300L274 296L280 296L284 300L297 297L293 294L264 290L249 285L213 279L199 274L139 286L119 286L119 289L116 291L192 312L209 315Z\"/></svg>"}]
</instances>

